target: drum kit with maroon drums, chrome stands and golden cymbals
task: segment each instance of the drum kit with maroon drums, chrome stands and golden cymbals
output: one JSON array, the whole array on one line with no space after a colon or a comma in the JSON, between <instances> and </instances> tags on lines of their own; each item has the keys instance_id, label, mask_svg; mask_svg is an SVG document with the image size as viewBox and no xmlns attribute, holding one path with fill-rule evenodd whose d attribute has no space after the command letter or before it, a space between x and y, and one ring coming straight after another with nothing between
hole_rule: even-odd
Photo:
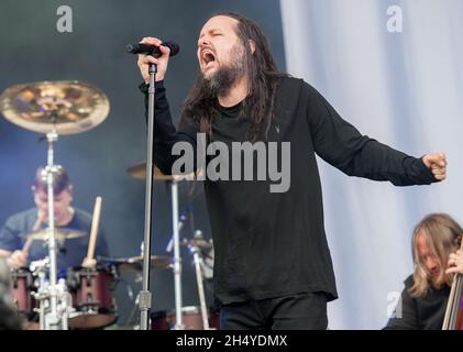
<instances>
[{"instance_id":1,"label":"drum kit with maroon drums, chrome stands and golden cymbals","mask_svg":"<svg viewBox=\"0 0 463 352\"><path fill-rule=\"evenodd\" d=\"M57 277L56 242L80 238L86 233L75 229L55 228L53 182L60 166L54 164L54 143L62 134L81 133L97 127L108 117L109 109L107 96L98 88L81 81L23 84L8 88L0 96L0 112L7 120L26 130L45 134L48 142L47 164L43 173L48 196L47 229L32 231L27 235L30 241L43 241L47 245L48 255L43 260L31 262L29 267L12 268L10 275L11 296L18 311L26 320L24 329L102 329L112 326L118 320L113 292L121 274L142 271L142 256L119 258L99 256L97 265L69 268L66 277ZM145 179L145 163L140 163L130 167L128 173L134 178ZM170 182L173 187L177 187L175 176L163 175L157 168L153 178ZM176 189L173 191L174 196L177 197ZM173 204L177 206L177 200ZM174 219L176 227L174 229L177 231L181 230L181 217L180 220ZM96 204L89 241L90 258L95 253L95 232L98 229L98 221L99 210L97 211ZM218 328L217 317L209 318L202 286L206 263L201 253L211 251L212 243L202 239L199 231L192 240L184 239L179 245L188 248L194 257L200 307L181 305L179 253L175 253L174 256L152 255L150 263L153 270L170 268L175 274L176 307L172 311L153 312L151 328L205 330Z\"/></svg>"}]
</instances>

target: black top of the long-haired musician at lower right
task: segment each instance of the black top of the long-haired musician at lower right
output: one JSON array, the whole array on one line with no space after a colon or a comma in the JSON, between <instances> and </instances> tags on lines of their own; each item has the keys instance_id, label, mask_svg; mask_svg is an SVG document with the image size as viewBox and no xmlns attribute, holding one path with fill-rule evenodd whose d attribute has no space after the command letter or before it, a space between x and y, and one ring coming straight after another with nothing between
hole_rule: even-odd
<instances>
[{"instance_id":1,"label":"black top of the long-haired musician at lower right","mask_svg":"<svg viewBox=\"0 0 463 352\"><path fill-rule=\"evenodd\" d=\"M423 297L414 298L409 293L412 285L414 277L410 275L405 280L396 316L389 319L385 330L441 330L450 295L449 286L440 289L431 287Z\"/></svg>"}]
</instances>

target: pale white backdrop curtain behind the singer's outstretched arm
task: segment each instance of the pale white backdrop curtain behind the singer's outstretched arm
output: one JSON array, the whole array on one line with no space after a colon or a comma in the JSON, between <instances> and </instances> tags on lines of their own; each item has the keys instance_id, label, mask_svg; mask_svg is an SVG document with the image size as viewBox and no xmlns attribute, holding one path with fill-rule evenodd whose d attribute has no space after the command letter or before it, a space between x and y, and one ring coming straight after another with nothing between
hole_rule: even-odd
<instances>
[{"instance_id":1,"label":"pale white backdrop curtain behind the singer's outstretched arm","mask_svg":"<svg viewBox=\"0 0 463 352\"><path fill-rule=\"evenodd\" d=\"M381 329L412 272L415 224L437 211L463 222L463 1L280 6L288 73L315 86L362 133L417 157L448 155L444 183L414 187L348 177L319 160L340 295L329 304L329 328ZM397 10L401 32L390 32L388 21L400 30Z\"/></svg>"}]
</instances>

